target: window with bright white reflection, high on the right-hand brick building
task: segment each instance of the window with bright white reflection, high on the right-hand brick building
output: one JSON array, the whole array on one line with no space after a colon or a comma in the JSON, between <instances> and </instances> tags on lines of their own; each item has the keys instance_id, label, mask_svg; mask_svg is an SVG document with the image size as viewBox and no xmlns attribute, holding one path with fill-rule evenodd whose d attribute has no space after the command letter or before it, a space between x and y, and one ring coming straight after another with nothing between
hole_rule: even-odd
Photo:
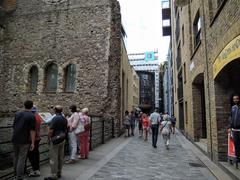
<instances>
[{"instance_id":1,"label":"window with bright white reflection, high on the right-hand brick building","mask_svg":"<svg viewBox=\"0 0 240 180\"><path fill-rule=\"evenodd\" d=\"M199 45L199 43L201 41L201 29L202 29L202 24L201 24L200 14L199 14L199 11L198 11L197 15L195 17L194 23L193 23L195 48Z\"/></svg>"}]
</instances>

